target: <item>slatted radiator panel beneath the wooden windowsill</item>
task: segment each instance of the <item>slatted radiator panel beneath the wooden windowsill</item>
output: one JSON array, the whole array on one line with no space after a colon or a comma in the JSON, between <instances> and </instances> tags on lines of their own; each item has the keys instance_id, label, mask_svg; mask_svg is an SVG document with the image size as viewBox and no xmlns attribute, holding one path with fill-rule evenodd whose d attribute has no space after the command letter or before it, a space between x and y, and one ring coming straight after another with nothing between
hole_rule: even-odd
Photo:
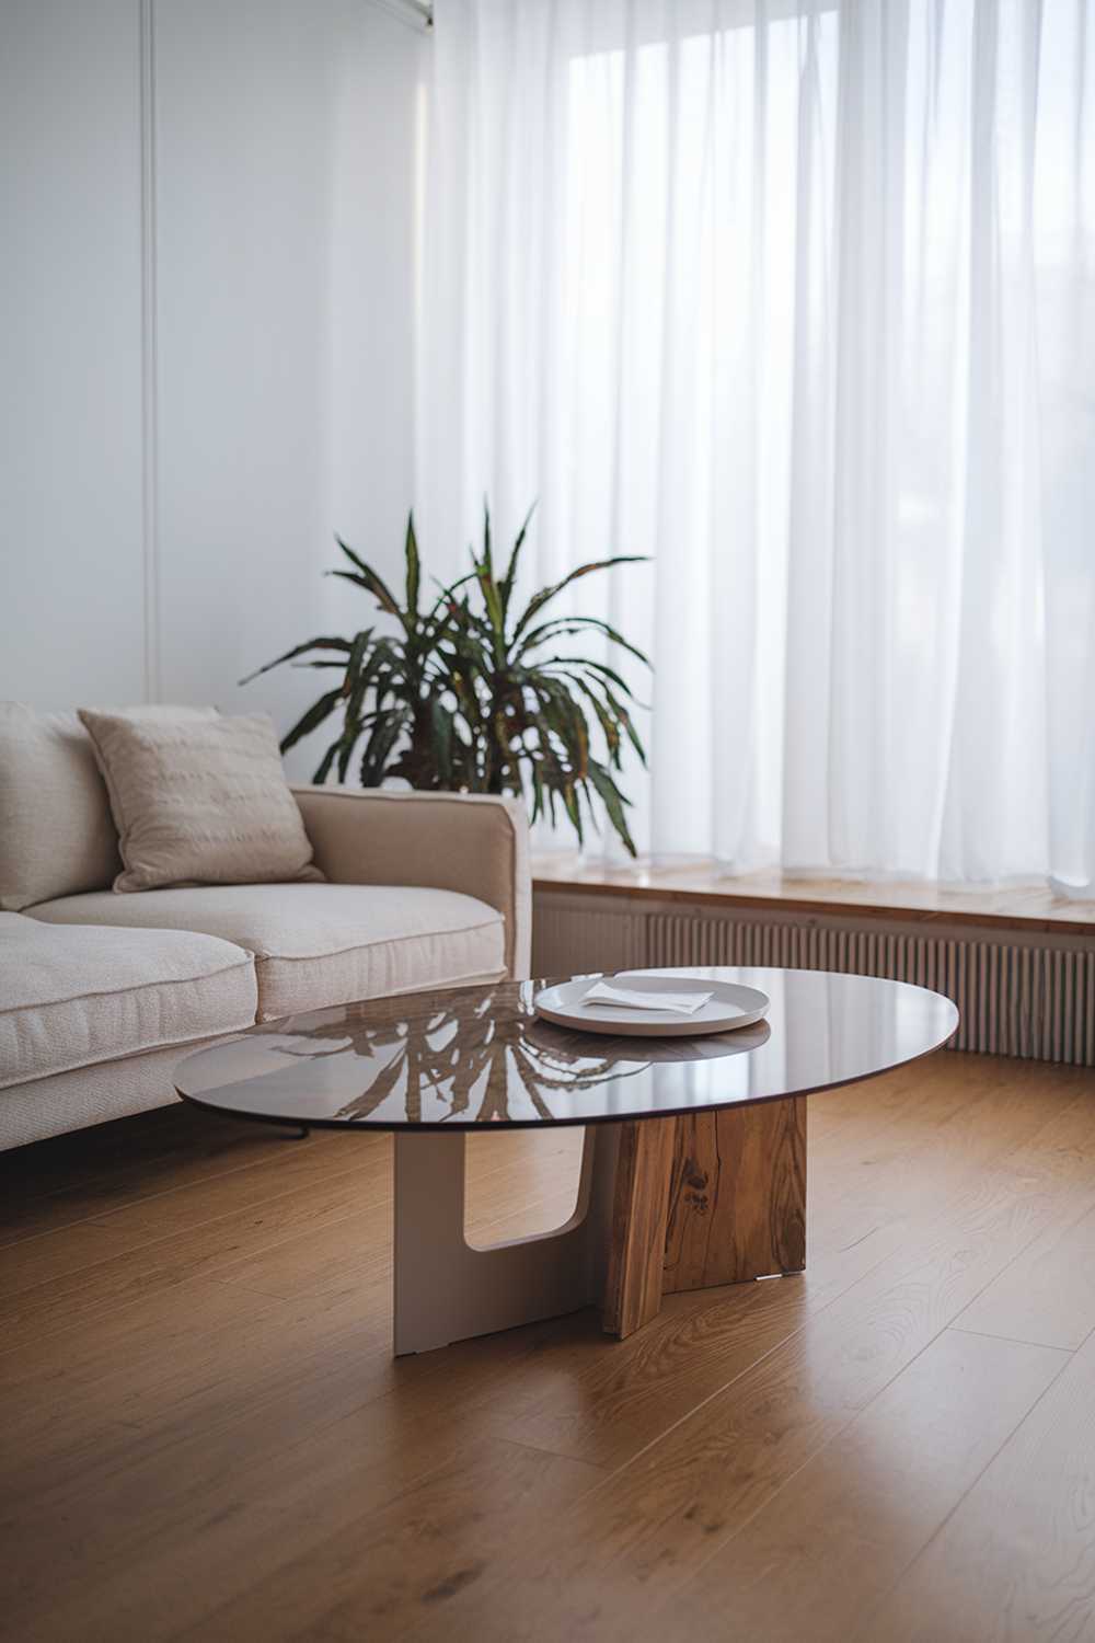
<instances>
[{"instance_id":1,"label":"slatted radiator panel beneath the wooden windowsill","mask_svg":"<svg viewBox=\"0 0 1095 1643\"><path fill-rule=\"evenodd\" d=\"M913 981L954 999L954 1050L1095 1066L1095 950L1069 935L985 938L978 927L818 917L747 917L640 900L537 894L534 973L658 964L778 964Z\"/></svg>"}]
</instances>

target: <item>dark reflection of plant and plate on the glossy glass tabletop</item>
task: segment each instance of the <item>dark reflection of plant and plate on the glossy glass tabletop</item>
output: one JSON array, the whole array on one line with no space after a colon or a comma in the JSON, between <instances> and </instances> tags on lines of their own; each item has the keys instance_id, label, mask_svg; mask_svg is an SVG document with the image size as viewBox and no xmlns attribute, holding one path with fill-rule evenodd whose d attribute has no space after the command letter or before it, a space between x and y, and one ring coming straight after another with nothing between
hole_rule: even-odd
<instances>
[{"instance_id":1,"label":"dark reflection of plant and plate on the glossy glass tabletop","mask_svg":"<svg viewBox=\"0 0 1095 1643\"><path fill-rule=\"evenodd\" d=\"M369 1119L399 1089L405 1122L514 1122L530 1114L511 1111L511 1093L524 1091L538 1119L552 1121L552 1094L571 1096L621 1078L635 1078L657 1061L693 1061L755 1048L768 1030L711 1038L606 1038L542 1022L534 987L515 996L501 989L453 991L442 999L402 996L374 999L360 1015L345 1010L271 1022L279 1055L309 1061L353 1056L369 1063L364 1088L332 1117ZM263 1029L259 1029L263 1032ZM309 1040L307 1048L297 1047ZM350 1071L350 1070L348 1070ZM353 1075L350 1075L353 1076ZM473 1111L473 1101L478 1107ZM442 1111L437 1111L437 1109Z\"/></svg>"}]
</instances>

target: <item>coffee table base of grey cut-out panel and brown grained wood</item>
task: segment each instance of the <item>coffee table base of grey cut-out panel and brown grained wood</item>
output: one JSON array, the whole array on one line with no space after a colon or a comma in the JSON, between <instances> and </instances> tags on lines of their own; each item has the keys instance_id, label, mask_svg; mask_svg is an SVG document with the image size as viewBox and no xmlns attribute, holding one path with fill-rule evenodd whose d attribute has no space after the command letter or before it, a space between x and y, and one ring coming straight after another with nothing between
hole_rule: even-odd
<instances>
[{"instance_id":1,"label":"coffee table base of grey cut-out panel and brown grained wood","mask_svg":"<svg viewBox=\"0 0 1095 1643\"><path fill-rule=\"evenodd\" d=\"M396 1137L396 1352L580 1306L629 1336L662 1296L801 1272L806 1101L586 1130L578 1204L555 1232L473 1249L465 1139Z\"/></svg>"}]
</instances>

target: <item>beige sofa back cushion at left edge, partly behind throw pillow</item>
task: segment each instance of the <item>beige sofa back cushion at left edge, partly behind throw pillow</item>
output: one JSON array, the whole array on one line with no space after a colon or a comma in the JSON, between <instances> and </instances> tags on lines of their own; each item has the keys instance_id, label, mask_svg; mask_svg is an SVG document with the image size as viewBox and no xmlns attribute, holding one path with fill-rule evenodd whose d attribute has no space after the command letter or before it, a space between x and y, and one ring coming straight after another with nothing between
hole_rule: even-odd
<instances>
[{"instance_id":1,"label":"beige sofa back cushion at left edge, partly behind throw pillow","mask_svg":"<svg viewBox=\"0 0 1095 1643\"><path fill-rule=\"evenodd\" d=\"M215 708L126 708L156 718L215 718ZM95 749L76 713L0 702L0 909L105 889L118 833Z\"/></svg>"}]
</instances>

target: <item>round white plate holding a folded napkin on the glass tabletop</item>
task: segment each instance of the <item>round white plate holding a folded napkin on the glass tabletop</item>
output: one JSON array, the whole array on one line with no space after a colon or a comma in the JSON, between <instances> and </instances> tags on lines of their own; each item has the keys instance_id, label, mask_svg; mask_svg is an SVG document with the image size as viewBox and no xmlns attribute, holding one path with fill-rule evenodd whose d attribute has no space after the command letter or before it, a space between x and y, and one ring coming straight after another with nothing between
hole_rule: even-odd
<instances>
[{"instance_id":1,"label":"round white plate holding a folded napkin on the glass tabletop","mask_svg":"<svg viewBox=\"0 0 1095 1643\"><path fill-rule=\"evenodd\" d=\"M583 999L598 984L599 976L580 981L561 981L545 987L535 997L535 1012L558 1027L576 1027L580 1032L602 1032L635 1038L696 1037L708 1032L729 1032L734 1027L752 1027L768 1010L768 994L760 987L742 987L735 981L708 981L706 976L667 976L663 971L629 969L607 976L614 986L634 986L644 992L711 992L712 997L694 1015L673 1010L629 1010L614 1004L586 1004Z\"/></svg>"}]
</instances>

